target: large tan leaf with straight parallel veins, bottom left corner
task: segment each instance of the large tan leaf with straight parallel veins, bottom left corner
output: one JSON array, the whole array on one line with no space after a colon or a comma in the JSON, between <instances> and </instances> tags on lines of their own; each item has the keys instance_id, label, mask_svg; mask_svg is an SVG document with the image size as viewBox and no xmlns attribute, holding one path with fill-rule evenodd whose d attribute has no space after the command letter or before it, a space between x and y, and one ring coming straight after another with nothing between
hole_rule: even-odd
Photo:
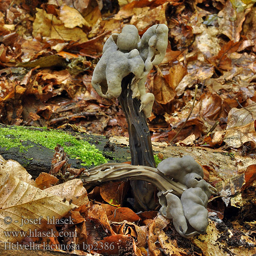
<instances>
[{"instance_id":1,"label":"large tan leaf with straight parallel veins, bottom left corner","mask_svg":"<svg viewBox=\"0 0 256 256\"><path fill-rule=\"evenodd\" d=\"M47 218L64 217L76 205L45 192L15 177L16 175L0 170L0 240L17 242L21 236L5 236L5 231L34 231L49 229ZM42 218L40 217L42 216ZM12 220L6 224L5 218ZM41 224L38 223L41 218ZM32 219L32 223L23 224L23 219ZM23 224L23 225L22 225ZM21 225L21 227L20 227Z\"/></svg>"}]
</instances>

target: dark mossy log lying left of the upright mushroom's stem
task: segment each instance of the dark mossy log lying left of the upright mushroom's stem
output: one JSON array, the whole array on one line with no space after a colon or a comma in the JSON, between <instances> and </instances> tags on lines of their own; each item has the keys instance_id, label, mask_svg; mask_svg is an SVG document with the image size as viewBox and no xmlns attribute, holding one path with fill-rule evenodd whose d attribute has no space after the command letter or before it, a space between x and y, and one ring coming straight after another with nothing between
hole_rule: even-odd
<instances>
[{"instance_id":1,"label":"dark mossy log lying left of the upright mushroom's stem","mask_svg":"<svg viewBox=\"0 0 256 256\"><path fill-rule=\"evenodd\" d=\"M15 131L14 133L14 129L17 128L18 131ZM0 136L2 136L2 139L0 138L0 154L7 160L12 159L19 162L24 168L26 168L32 177L38 177L41 172L49 172L54 154L54 148L51 148L54 143L52 144L50 133L51 131L56 130L24 126L22 129L26 132L23 133L20 128L21 127L0 124ZM36 134L34 134L35 131L37 131ZM44 143L43 141L42 143L38 142L38 137L36 143L31 140L27 140L27 133L33 134L33 136L39 136L38 131L40 131L39 135L43 135ZM81 143L87 143L84 145L84 147L86 147L89 143L90 150L93 150L93 148L96 149L95 155L97 157L97 161L96 159L93 159L93 155L91 156L92 159L89 159L89 161L86 159L83 161L81 157L78 158L74 155L70 155L70 153L65 150L69 158L69 163L73 168L90 168L98 165L100 161L102 161L102 163L109 161L115 163L131 161L129 147L127 145L118 145L114 142L110 142L109 138L106 136L74 131L70 126L67 126L64 131L61 130L60 132L61 134L66 133L68 136L70 136L67 137L67 141L63 142L64 145L62 145L66 145L66 148L68 149L76 147L76 145L73 145L74 138L79 142L80 146L82 145ZM53 134L53 136L58 137L58 133ZM8 140L3 141L3 138L7 138ZM48 143L47 139L51 141ZM47 144L49 144L49 147ZM61 143L58 142L58 144ZM99 156L100 154L102 154L102 159ZM93 164L94 161L98 164Z\"/></svg>"}]
</instances>

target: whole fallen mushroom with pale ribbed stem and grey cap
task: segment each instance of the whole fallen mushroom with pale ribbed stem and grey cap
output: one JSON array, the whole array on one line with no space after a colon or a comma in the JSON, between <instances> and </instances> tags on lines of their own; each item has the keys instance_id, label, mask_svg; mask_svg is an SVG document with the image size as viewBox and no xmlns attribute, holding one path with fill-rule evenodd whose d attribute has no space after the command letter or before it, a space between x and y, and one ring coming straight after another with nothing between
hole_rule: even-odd
<instances>
[{"instance_id":1,"label":"whole fallen mushroom with pale ribbed stem and grey cap","mask_svg":"<svg viewBox=\"0 0 256 256\"><path fill-rule=\"evenodd\" d=\"M174 164L172 164L174 163ZM186 163L186 165L184 165ZM205 233L208 225L207 203L217 190L203 180L201 166L191 157L170 157L157 168L106 163L87 170L81 179L86 188L108 180L144 180L157 187L160 213L172 218L180 236L189 238Z\"/></svg>"}]
</instances>

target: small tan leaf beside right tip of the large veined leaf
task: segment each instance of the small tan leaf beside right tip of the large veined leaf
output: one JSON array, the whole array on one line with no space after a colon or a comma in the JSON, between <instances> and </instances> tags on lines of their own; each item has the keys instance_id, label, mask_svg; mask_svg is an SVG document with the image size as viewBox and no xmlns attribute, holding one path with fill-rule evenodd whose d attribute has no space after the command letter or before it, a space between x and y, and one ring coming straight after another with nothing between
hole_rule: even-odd
<instances>
[{"instance_id":1,"label":"small tan leaf beside right tip of the large veined leaf","mask_svg":"<svg viewBox=\"0 0 256 256\"><path fill-rule=\"evenodd\" d=\"M88 204L89 202L87 191L80 179L68 180L59 185L44 189L44 191L49 192L52 195L57 195L68 202L72 200L73 204L78 206Z\"/></svg>"}]
</instances>

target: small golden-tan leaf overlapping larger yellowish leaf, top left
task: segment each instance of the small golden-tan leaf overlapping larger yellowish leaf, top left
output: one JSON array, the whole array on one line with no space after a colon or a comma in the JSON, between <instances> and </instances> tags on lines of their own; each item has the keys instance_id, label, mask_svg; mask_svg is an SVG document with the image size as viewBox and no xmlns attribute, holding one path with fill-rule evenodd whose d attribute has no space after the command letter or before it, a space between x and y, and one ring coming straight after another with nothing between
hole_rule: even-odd
<instances>
[{"instance_id":1,"label":"small golden-tan leaf overlapping larger yellowish leaf, top left","mask_svg":"<svg viewBox=\"0 0 256 256\"><path fill-rule=\"evenodd\" d=\"M83 25L90 27L90 24L79 11L67 5L61 6L59 17L66 28L73 29L76 26L82 27Z\"/></svg>"}]
</instances>

